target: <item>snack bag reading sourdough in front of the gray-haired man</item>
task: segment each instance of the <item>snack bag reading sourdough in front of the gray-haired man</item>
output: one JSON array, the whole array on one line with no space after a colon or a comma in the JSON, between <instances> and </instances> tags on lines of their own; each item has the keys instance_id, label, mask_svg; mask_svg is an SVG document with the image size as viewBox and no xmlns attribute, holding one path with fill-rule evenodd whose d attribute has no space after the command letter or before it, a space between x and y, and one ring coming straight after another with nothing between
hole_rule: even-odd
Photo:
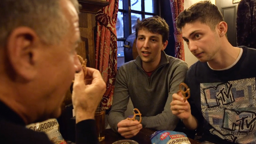
<instances>
[{"instance_id":1,"label":"snack bag reading sourdough in front of the gray-haired man","mask_svg":"<svg viewBox=\"0 0 256 144\"><path fill-rule=\"evenodd\" d=\"M27 125L26 128L46 133L54 144L67 144L59 132L59 123L56 119L49 119L38 123Z\"/></svg>"}]
</instances>

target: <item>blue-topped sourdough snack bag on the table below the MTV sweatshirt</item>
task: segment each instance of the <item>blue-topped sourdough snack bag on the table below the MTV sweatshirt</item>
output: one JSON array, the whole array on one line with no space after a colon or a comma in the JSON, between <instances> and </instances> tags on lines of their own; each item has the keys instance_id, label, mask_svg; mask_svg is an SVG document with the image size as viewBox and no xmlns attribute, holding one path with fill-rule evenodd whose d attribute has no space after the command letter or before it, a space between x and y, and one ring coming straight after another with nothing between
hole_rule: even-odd
<instances>
[{"instance_id":1,"label":"blue-topped sourdough snack bag on the table below the MTV sweatshirt","mask_svg":"<svg viewBox=\"0 0 256 144\"><path fill-rule=\"evenodd\" d=\"M168 130L156 131L150 140L152 144L191 144L186 134Z\"/></svg>"}]
</instances>

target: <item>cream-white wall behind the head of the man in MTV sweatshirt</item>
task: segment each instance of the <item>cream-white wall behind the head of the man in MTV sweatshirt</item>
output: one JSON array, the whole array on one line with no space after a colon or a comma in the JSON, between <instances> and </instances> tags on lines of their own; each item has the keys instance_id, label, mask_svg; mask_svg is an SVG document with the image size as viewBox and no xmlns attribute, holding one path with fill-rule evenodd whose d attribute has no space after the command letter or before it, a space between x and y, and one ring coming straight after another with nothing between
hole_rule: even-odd
<instances>
[{"instance_id":1,"label":"cream-white wall behind the head of the man in MTV sweatshirt","mask_svg":"<svg viewBox=\"0 0 256 144\"><path fill-rule=\"evenodd\" d=\"M199 1L204 1L204 0L184 0L184 9L189 8L193 4L199 2ZM213 4L215 4L215 0L210 0ZM198 61L198 59L189 51L188 45L184 42L184 52L185 52L185 62L188 64L190 67L192 64Z\"/></svg>"}]
</instances>

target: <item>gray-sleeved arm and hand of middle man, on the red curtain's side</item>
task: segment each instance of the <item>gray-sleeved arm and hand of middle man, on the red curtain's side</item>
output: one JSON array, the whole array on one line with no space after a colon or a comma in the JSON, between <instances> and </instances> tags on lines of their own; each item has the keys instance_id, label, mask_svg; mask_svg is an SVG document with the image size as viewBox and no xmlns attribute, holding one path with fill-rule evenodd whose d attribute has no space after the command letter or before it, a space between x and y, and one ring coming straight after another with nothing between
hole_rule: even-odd
<instances>
[{"instance_id":1,"label":"gray-sleeved arm and hand of middle man, on the red curtain's side","mask_svg":"<svg viewBox=\"0 0 256 144\"><path fill-rule=\"evenodd\" d=\"M127 109L129 93L127 88L127 74L121 66L116 76L115 90L111 111L108 115L110 127L125 138L136 136L142 125L138 121L127 120L124 112Z\"/></svg>"}]
</instances>

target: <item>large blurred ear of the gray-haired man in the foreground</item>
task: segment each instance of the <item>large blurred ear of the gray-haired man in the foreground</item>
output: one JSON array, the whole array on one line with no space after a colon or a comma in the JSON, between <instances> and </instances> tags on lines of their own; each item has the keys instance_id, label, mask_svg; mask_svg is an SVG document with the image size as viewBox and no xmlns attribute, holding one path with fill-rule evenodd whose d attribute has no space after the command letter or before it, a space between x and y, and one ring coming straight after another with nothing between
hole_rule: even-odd
<instances>
[{"instance_id":1,"label":"large blurred ear of the gray-haired man in the foreground","mask_svg":"<svg viewBox=\"0 0 256 144\"><path fill-rule=\"evenodd\" d=\"M18 27L10 33L6 48L16 79L28 81L36 75L34 55L39 41L36 32L29 27Z\"/></svg>"}]
</instances>

